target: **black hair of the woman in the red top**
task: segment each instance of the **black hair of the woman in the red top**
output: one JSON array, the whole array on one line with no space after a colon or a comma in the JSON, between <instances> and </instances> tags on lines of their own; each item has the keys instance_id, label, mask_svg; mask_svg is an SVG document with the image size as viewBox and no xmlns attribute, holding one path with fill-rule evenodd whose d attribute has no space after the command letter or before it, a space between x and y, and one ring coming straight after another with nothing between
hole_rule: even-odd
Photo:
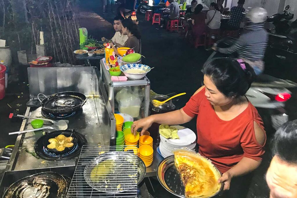
<instances>
[{"instance_id":1,"label":"black hair of the woman in the red top","mask_svg":"<svg viewBox=\"0 0 297 198\"><path fill-rule=\"evenodd\" d=\"M251 87L256 76L249 64L244 65L245 69L232 58L214 58L204 64L203 73L226 97L240 97Z\"/></svg>"}]
</instances>

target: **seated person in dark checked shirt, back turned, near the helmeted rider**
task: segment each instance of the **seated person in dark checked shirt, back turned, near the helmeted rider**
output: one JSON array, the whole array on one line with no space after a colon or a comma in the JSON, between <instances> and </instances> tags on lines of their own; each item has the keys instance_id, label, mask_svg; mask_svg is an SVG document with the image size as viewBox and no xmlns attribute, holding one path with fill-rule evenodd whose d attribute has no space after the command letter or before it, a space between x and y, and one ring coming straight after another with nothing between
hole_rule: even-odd
<instances>
[{"instance_id":1,"label":"seated person in dark checked shirt, back turned, near the helmeted rider","mask_svg":"<svg viewBox=\"0 0 297 198\"><path fill-rule=\"evenodd\" d=\"M227 30L238 30L240 22L244 18L245 9L243 7L245 0L238 0L237 6L234 6L230 9L230 19L226 27L223 26L223 29Z\"/></svg>"}]
</instances>

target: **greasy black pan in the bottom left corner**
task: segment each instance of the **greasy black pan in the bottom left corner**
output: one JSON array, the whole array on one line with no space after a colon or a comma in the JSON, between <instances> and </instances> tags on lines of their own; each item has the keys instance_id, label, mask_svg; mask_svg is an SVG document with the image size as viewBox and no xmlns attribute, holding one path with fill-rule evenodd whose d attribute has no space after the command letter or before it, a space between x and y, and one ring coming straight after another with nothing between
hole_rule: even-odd
<instances>
[{"instance_id":1,"label":"greasy black pan in the bottom left corner","mask_svg":"<svg viewBox=\"0 0 297 198\"><path fill-rule=\"evenodd\" d=\"M37 173L10 185L3 194L3 198L31 197L38 187L42 190L36 192L36 197L64 198L67 194L68 182L67 177L57 173Z\"/></svg>"}]
</instances>

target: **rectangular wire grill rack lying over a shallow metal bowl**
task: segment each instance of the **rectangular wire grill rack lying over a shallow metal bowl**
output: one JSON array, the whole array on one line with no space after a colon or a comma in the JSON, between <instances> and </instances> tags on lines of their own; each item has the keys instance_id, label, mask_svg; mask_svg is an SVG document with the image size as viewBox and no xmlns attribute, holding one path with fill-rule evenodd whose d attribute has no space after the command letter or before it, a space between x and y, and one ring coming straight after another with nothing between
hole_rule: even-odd
<instances>
[{"instance_id":1,"label":"rectangular wire grill rack lying over a shallow metal bowl","mask_svg":"<svg viewBox=\"0 0 297 198\"><path fill-rule=\"evenodd\" d=\"M124 146L83 146L67 198L137 197L138 157Z\"/></svg>"}]
</instances>

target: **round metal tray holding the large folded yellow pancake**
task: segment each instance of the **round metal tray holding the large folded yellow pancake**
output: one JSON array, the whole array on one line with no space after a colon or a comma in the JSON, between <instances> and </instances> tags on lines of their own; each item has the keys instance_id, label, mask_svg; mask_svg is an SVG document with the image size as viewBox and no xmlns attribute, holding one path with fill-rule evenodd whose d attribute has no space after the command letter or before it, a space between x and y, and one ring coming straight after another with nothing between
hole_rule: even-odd
<instances>
[{"instance_id":1,"label":"round metal tray holding the large folded yellow pancake","mask_svg":"<svg viewBox=\"0 0 297 198\"><path fill-rule=\"evenodd\" d=\"M217 168L216 168L217 169ZM219 172L219 170L217 169ZM170 193L176 195L177 197L185 198L185 188L184 184L181 180L181 175L178 171L178 168L174 162L174 155L164 158L158 166L157 169L157 178L161 185L168 190ZM223 185L216 194L210 196L214 197L219 194L219 192L223 189ZM210 198L210 197L195 197L195 198Z\"/></svg>"}]
</instances>

